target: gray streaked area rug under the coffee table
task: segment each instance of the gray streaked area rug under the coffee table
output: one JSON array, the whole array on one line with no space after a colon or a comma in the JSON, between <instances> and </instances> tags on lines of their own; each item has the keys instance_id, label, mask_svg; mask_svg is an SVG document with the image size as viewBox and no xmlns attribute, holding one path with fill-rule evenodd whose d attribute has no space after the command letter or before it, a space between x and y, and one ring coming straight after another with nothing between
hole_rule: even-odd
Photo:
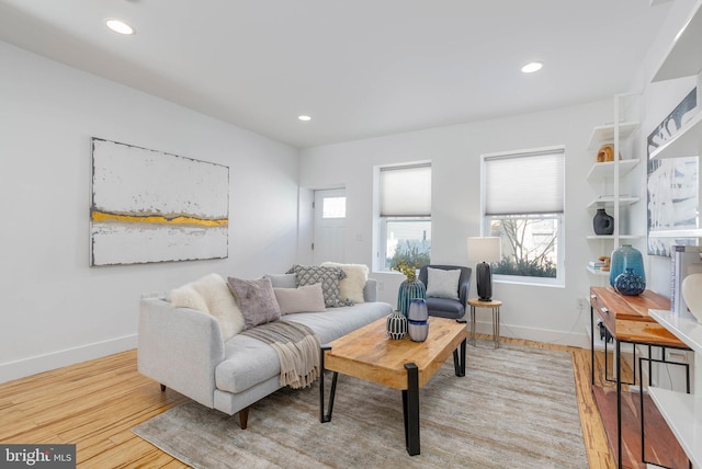
<instances>
[{"instance_id":1,"label":"gray streaked area rug under the coffee table","mask_svg":"<svg viewBox=\"0 0 702 469\"><path fill-rule=\"evenodd\" d=\"M327 377L327 392L330 378ZM339 375L331 422L319 387L281 389L238 416L194 402L135 427L195 468L587 468L570 355L502 344L467 347L420 389L421 454L405 449L401 392Z\"/></svg>"}]
</instances>

